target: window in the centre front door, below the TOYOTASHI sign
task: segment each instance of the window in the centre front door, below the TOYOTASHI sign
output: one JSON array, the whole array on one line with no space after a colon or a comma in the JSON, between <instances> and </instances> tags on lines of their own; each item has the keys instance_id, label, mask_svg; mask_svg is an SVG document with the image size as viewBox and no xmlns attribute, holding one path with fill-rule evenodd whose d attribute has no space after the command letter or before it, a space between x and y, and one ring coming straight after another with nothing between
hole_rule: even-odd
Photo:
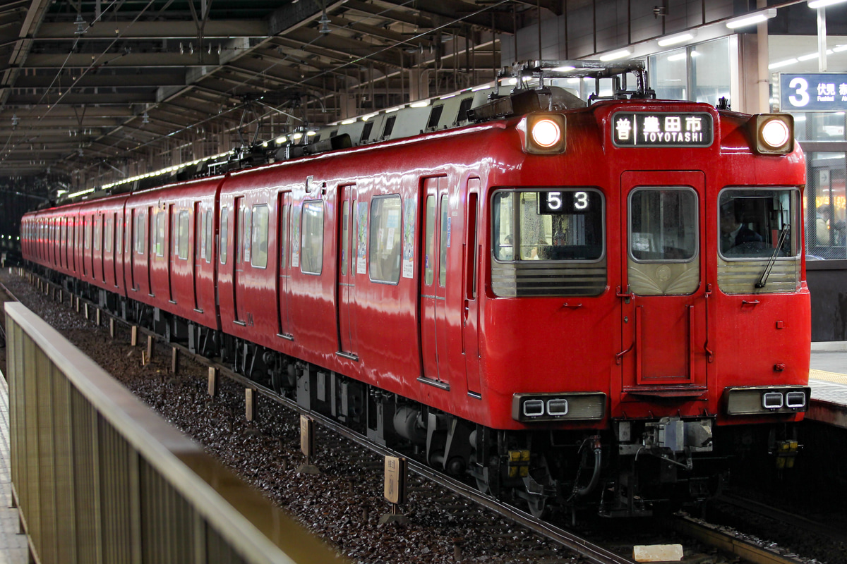
<instances>
[{"instance_id":1,"label":"window in the centre front door, below the TOYOTASHI sign","mask_svg":"<svg viewBox=\"0 0 847 564\"><path fill-rule=\"evenodd\" d=\"M629 254L635 261L689 262L697 255L697 194L689 188L629 194Z\"/></svg>"}]
</instances>

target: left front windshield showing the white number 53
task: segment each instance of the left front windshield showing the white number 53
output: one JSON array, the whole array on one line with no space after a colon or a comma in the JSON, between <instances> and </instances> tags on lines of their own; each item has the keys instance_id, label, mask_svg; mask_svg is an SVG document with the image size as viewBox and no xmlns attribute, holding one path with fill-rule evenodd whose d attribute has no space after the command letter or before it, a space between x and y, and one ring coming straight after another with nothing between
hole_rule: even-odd
<instances>
[{"instance_id":1,"label":"left front windshield showing the white number 53","mask_svg":"<svg viewBox=\"0 0 847 564\"><path fill-rule=\"evenodd\" d=\"M501 191L494 196L496 260L599 260L603 195L596 189Z\"/></svg>"}]
</instances>

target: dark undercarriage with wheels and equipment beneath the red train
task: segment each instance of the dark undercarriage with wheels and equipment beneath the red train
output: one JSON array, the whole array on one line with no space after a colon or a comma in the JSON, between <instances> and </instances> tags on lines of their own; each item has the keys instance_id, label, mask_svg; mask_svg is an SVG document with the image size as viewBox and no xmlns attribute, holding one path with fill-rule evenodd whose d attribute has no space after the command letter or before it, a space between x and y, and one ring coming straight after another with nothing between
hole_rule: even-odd
<instances>
[{"instance_id":1,"label":"dark undercarriage with wheels and equipment beneath the red train","mask_svg":"<svg viewBox=\"0 0 847 564\"><path fill-rule=\"evenodd\" d=\"M573 518L578 512L649 516L697 504L722 490L739 453L771 454L788 468L798 448L793 426L771 428L764 436L719 432L712 418L618 420L612 430L494 430L86 282L48 274L121 319L228 364L304 410L526 507L536 517L550 512Z\"/></svg>"}]
</instances>

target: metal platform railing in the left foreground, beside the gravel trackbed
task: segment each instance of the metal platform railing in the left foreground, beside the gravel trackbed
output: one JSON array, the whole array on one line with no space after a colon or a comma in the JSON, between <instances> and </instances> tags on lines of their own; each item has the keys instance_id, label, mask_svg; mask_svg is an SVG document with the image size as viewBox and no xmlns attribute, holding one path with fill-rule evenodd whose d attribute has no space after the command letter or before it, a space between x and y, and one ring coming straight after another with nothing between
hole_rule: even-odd
<instances>
[{"instance_id":1,"label":"metal platform railing in the left foreground, beside the gravel trackbed","mask_svg":"<svg viewBox=\"0 0 847 564\"><path fill-rule=\"evenodd\" d=\"M340 561L25 306L5 312L13 495L36 561Z\"/></svg>"}]
</instances>

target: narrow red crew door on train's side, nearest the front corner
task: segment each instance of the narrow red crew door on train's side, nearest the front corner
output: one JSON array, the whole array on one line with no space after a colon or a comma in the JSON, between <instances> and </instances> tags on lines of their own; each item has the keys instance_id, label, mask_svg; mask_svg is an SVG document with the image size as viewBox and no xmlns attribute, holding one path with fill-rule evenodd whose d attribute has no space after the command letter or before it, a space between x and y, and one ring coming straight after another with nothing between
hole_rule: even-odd
<instances>
[{"instance_id":1,"label":"narrow red crew door on train's side, nearest the front corner","mask_svg":"<svg viewBox=\"0 0 847 564\"><path fill-rule=\"evenodd\" d=\"M462 351L465 353L465 374L468 377L468 393L479 395L479 235L477 214L479 211L479 178L468 179L468 205L465 217L464 261L462 272Z\"/></svg>"}]
</instances>

